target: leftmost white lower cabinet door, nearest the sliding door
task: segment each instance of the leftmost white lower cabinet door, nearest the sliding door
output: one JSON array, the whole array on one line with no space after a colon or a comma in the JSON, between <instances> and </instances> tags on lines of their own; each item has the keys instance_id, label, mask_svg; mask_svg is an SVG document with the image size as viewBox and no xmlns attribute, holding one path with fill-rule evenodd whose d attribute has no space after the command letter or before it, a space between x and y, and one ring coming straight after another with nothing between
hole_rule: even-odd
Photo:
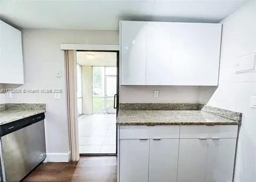
<instances>
[{"instance_id":1,"label":"leftmost white lower cabinet door, nearest the sliding door","mask_svg":"<svg viewBox=\"0 0 256 182\"><path fill-rule=\"evenodd\" d=\"M120 140L119 181L148 182L149 140Z\"/></svg>"}]
</instances>

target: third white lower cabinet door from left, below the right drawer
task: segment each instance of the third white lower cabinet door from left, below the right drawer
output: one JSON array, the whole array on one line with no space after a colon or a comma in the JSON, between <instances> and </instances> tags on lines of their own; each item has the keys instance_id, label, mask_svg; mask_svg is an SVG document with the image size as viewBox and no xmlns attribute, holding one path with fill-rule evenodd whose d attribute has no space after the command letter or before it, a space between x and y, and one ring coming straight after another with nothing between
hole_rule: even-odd
<instances>
[{"instance_id":1,"label":"third white lower cabinet door from left, below the right drawer","mask_svg":"<svg viewBox=\"0 0 256 182\"><path fill-rule=\"evenodd\" d=\"M205 182L207 140L180 139L178 182Z\"/></svg>"}]
</instances>

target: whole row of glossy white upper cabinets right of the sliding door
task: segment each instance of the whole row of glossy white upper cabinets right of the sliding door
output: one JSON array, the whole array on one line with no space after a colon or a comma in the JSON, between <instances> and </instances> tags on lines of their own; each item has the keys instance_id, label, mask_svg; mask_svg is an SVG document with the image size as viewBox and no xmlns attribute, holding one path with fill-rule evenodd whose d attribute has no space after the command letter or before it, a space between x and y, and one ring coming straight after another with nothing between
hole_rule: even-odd
<instances>
[{"instance_id":1,"label":"whole row of glossy white upper cabinets right of the sliding door","mask_svg":"<svg viewBox=\"0 0 256 182\"><path fill-rule=\"evenodd\" d=\"M121 21L121 85L218 85L221 29Z\"/></svg>"}]
</instances>

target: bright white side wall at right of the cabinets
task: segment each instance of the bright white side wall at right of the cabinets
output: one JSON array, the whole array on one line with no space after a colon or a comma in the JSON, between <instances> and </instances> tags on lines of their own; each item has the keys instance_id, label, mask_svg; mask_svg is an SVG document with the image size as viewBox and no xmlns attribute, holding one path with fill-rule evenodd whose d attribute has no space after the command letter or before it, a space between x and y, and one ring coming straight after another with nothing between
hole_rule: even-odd
<instances>
[{"instance_id":1,"label":"bright white side wall at right of the cabinets","mask_svg":"<svg viewBox=\"0 0 256 182\"><path fill-rule=\"evenodd\" d=\"M256 53L256 1L222 23L219 87L207 105L243 113L234 181L256 181L256 109L250 108L251 96L256 96L256 72L234 73L237 56Z\"/></svg>"}]
</instances>

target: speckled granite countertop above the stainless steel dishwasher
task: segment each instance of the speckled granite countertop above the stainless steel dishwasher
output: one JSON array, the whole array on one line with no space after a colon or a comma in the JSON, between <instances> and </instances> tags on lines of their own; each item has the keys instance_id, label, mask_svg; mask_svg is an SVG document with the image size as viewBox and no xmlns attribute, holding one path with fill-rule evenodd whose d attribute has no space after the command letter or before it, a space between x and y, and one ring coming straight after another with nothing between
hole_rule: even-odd
<instances>
[{"instance_id":1,"label":"speckled granite countertop above the stainless steel dishwasher","mask_svg":"<svg viewBox=\"0 0 256 182\"><path fill-rule=\"evenodd\" d=\"M1 108L0 125L46 112L45 103L5 103Z\"/></svg>"}]
</instances>

